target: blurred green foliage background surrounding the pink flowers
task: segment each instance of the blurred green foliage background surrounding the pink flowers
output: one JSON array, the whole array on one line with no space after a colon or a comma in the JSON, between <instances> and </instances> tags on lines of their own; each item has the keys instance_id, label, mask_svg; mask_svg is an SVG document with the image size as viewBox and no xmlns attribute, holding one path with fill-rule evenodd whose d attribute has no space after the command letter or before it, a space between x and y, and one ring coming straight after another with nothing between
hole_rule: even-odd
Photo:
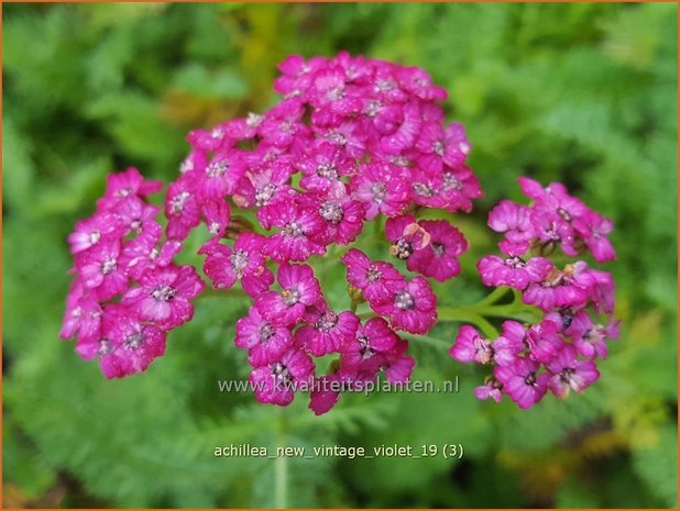
<instances>
[{"instance_id":1,"label":"blurred green foliage background surrounding the pink flowers","mask_svg":"<svg viewBox=\"0 0 680 511\"><path fill-rule=\"evenodd\" d=\"M676 507L677 5L4 4L4 507ZM448 358L456 325L412 343L415 378L458 395L344 397L315 418L219 393L246 376L239 299L201 299L143 375L107 381L57 332L65 237L107 173L177 175L191 127L275 97L289 53L417 65L450 91L486 196L441 300L483 295L475 257L516 177L562 180L613 218L619 341L581 397L478 402ZM199 243L199 240L189 242ZM437 341L438 340L438 341ZM461 443L439 458L215 458L216 445Z\"/></svg>"}]
</instances>

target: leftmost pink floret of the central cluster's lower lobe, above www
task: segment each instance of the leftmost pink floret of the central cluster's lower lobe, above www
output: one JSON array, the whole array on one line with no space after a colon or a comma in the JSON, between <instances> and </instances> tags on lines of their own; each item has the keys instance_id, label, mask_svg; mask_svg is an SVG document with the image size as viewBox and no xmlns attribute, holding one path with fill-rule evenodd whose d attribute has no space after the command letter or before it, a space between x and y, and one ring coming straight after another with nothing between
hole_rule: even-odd
<instances>
[{"instance_id":1,"label":"leftmost pink floret of the central cluster's lower lobe, above www","mask_svg":"<svg viewBox=\"0 0 680 511\"><path fill-rule=\"evenodd\" d=\"M286 326L265 320L255 307L237 321L234 344L248 349L248 362L260 367L276 362L293 346L293 334Z\"/></svg>"}]
</instances>

